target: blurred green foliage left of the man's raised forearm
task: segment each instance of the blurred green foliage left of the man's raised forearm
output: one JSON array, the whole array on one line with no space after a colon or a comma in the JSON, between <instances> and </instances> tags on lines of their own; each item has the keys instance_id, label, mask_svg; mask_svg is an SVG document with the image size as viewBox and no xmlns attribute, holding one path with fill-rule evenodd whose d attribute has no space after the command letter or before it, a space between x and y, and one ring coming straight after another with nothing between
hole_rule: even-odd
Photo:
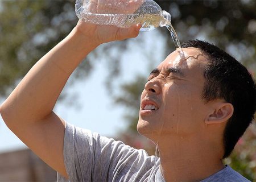
<instances>
[{"instance_id":1,"label":"blurred green foliage left of the man's raised forearm","mask_svg":"<svg viewBox=\"0 0 256 182\"><path fill-rule=\"evenodd\" d=\"M72 30L77 22L74 3L1 1L0 96L9 94L9 88ZM90 67L86 64L82 71Z\"/></svg>"}]
</instances>

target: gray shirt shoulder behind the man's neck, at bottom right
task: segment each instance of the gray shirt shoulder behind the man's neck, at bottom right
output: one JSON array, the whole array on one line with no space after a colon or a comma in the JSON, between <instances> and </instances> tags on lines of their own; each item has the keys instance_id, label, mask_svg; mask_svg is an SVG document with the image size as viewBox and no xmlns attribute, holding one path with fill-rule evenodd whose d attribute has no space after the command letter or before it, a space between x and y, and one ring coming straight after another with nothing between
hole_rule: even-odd
<instances>
[{"instance_id":1,"label":"gray shirt shoulder behind the man's neck, at bottom right","mask_svg":"<svg viewBox=\"0 0 256 182\"><path fill-rule=\"evenodd\" d=\"M243 177L240 173L237 171L234 171L230 166L226 166L221 171L214 173L212 176L209 176L207 179L204 179L202 182L208 182L208 181L222 181L222 182L233 182L233 181L239 181L239 182L250 182L245 177Z\"/></svg>"}]
</instances>

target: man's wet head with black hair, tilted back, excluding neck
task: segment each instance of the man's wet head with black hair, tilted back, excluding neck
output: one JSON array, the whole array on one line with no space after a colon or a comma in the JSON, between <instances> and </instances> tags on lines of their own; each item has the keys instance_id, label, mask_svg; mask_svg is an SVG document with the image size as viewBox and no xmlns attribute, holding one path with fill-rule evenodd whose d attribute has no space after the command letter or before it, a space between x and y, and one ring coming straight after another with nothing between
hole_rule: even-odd
<instances>
[{"instance_id":1,"label":"man's wet head with black hair, tilted back, excluding neck","mask_svg":"<svg viewBox=\"0 0 256 182\"><path fill-rule=\"evenodd\" d=\"M255 83L245 67L212 44L192 40L182 47L185 60L175 51L151 73L138 131L152 140L158 140L152 133L216 137L225 158L253 119Z\"/></svg>"}]
</instances>

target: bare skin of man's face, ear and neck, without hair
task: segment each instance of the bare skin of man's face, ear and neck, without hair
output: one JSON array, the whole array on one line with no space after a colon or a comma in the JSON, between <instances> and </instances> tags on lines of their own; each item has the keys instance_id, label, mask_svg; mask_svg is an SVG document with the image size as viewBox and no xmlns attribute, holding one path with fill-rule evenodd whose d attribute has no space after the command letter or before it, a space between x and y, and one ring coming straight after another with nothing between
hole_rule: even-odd
<instances>
[{"instance_id":1,"label":"bare skin of man's face, ear and neck, without hair","mask_svg":"<svg viewBox=\"0 0 256 182\"><path fill-rule=\"evenodd\" d=\"M200 181L224 168L222 133L233 114L225 101L201 99L207 56L192 47L183 52L185 59L172 52L148 77L137 126L158 144L166 181ZM144 110L146 104L158 110Z\"/></svg>"}]
</instances>

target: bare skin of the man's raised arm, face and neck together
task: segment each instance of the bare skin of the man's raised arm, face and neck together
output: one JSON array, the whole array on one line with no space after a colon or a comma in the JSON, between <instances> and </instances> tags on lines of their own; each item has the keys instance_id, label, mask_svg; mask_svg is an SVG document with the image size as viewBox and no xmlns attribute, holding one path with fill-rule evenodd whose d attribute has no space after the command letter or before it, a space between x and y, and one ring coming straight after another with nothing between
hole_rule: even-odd
<instances>
[{"instance_id":1,"label":"bare skin of the man's raised arm, face and neck together","mask_svg":"<svg viewBox=\"0 0 256 182\"><path fill-rule=\"evenodd\" d=\"M118 28L79 21L63 41L31 68L0 106L10 130L67 179L63 161L65 122L52 111L57 98L71 73L93 49L114 40L135 38L140 28L139 24ZM148 81L142 93L142 98L155 100L159 110L140 114L138 130L159 143L162 173L167 181L183 180L184 176L187 181L202 179L223 167L220 133L232 115L232 105L223 101L204 105L199 100L203 82L199 73L204 66L204 56L199 52L186 49L184 61L177 58L177 52L172 53L159 65L159 76ZM163 68L174 65L173 60L180 64L186 77L162 78ZM159 93L150 93L151 87L158 87Z\"/></svg>"}]
</instances>

